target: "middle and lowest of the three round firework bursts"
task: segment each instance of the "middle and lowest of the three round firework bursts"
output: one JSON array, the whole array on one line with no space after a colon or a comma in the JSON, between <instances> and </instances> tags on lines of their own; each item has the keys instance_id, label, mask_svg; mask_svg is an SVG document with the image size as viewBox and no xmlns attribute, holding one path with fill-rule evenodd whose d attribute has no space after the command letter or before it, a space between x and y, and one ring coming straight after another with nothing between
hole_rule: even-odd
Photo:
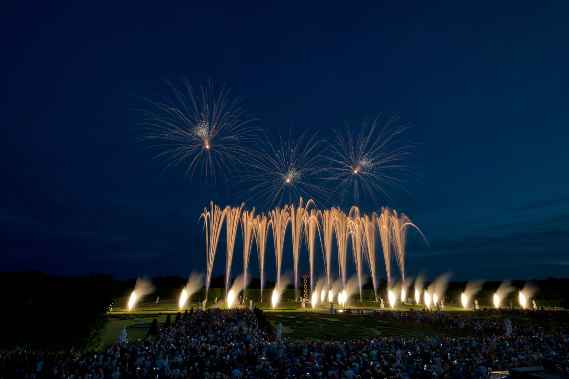
<instances>
[{"instance_id":1,"label":"middle and lowest of the three round firework bursts","mask_svg":"<svg viewBox=\"0 0 569 379\"><path fill-rule=\"evenodd\" d=\"M302 197L329 195L321 186L325 162L324 139L304 132L296 140L288 131L286 140L279 132L279 141L265 132L264 138L255 141L255 153L245 157L246 170L240 183L250 187L241 192L248 200L264 201L265 206L281 206L282 203L299 203ZM318 181L319 185L313 182Z\"/></svg>"}]
</instances>

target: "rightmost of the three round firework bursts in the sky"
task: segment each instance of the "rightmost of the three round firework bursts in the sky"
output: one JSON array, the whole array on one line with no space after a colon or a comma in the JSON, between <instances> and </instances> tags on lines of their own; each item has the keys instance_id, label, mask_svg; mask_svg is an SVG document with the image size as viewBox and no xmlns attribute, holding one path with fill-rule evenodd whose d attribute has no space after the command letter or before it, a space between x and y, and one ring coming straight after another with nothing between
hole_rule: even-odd
<instances>
[{"instance_id":1,"label":"rightmost of the three round firework bursts in the sky","mask_svg":"<svg viewBox=\"0 0 569 379\"><path fill-rule=\"evenodd\" d=\"M327 182L337 184L341 198L347 198L351 192L356 205L360 191L376 204L377 193L391 199L390 189L404 189L403 185L409 184L407 178L414 173L406 161L415 155L415 146L398 139L409 124L394 126L398 118L392 118L379 130L379 117L373 122L364 120L356 140L348 123L347 134L336 128L335 141L330 145Z\"/></svg>"}]
</instances>

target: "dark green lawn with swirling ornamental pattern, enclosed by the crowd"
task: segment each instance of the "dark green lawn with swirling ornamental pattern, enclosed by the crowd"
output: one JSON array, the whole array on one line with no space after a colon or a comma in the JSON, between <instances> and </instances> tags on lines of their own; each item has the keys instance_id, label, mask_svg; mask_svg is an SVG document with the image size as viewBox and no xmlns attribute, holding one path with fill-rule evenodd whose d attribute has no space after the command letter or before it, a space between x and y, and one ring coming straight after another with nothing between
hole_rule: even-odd
<instances>
[{"instance_id":1,"label":"dark green lawn with swirling ornamental pattern, enclosed by the crowd","mask_svg":"<svg viewBox=\"0 0 569 379\"><path fill-rule=\"evenodd\" d=\"M292 339L350 340L368 335L393 336L460 336L460 334L427 326L384 320L371 315L330 315L316 312L267 312L273 325L283 324L282 334Z\"/></svg>"}]
</instances>

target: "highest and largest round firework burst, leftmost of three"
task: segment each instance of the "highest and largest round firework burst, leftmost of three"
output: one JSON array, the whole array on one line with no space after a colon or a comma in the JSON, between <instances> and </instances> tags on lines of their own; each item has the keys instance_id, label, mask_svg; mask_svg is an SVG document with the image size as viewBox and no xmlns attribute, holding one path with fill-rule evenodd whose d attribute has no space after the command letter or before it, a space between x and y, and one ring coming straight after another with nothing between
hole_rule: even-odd
<instances>
[{"instance_id":1,"label":"highest and largest round firework burst, leftmost of three","mask_svg":"<svg viewBox=\"0 0 569 379\"><path fill-rule=\"evenodd\" d=\"M229 100L225 86L215 97L212 84L200 86L196 94L185 77L183 90L164 82L174 97L149 101L156 110L140 111L143 120L138 129L144 132L137 142L151 141L154 144L146 148L160 149L153 160L164 166L161 174L187 163L184 177L190 181L200 172L206 186L208 180L214 188L218 180L228 183L241 166L241 158L249 155L243 142L252 139L250 123L258 119L241 106L243 98Z\"/></svg>"}]
</instances>

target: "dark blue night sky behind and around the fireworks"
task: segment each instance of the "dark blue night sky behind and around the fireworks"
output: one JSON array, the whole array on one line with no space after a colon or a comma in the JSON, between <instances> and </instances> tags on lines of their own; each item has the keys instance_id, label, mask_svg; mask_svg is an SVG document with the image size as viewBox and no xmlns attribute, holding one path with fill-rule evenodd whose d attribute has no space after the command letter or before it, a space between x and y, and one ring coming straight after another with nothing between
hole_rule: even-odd
<instances>
[{"instance_id":1,"label":"dark blue night sky behind and around the fireworks","mask_svg":"<svg viewBox=\"0 0 569 379\"><path fill-rule=\"evenodd\" d=\"M2 271L204 270L212 198L181 173L157 181L129 145L134 96L183 74L227 84L273 130L327 136L381 110L413 122L422 183L385 201L431 244L410 233L407 275L567 276L569 2L52 4L1 16Z\"/></svg>"}]
</instances>

